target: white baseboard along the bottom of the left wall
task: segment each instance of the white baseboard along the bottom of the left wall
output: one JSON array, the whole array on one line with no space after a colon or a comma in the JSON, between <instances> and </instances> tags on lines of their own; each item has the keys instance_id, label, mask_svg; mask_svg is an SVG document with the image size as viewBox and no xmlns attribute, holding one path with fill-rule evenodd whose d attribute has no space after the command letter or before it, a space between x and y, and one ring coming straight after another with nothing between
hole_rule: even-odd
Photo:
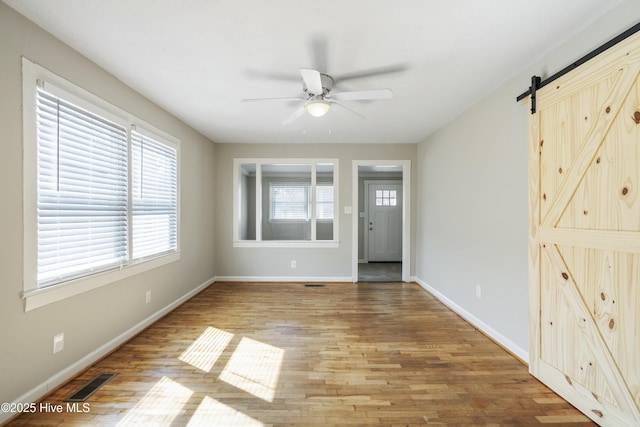
<instances>
[{"instance_id":1,"label":"white baseboard along the bottom of the left wall","mask_svg":"<svg viewBox=\"0 0 640 427\"><path fill-rule=\"evenodd\" d=\"M170 311L178 307L180 304L191 299L197 293L207 288L213 282L215 282L214 279L209 279L206 282L202 283L192 291L186 293L176 301L158 310L151 316L142 320L140 323L134 325L130 329L121 333L111 341L108 341L107 343L101 345L91 353L84 356L82 359L67 366L65 369L53 375L45 382L32 388L31 390L29 390L28 392L18 397L16 400L14 400L13 403L19 404L19 403L25 403L25 402L37 402L38 400L42 399L51 390L55 389L56 387L65 383L66 381L70 380L75 375L82 372L84 369L88 368L89 366L94 364L96 361L100 360L102 357L111 353L113 350L117 349L122 344L124 344L125 342L127 342L128 340L130 340L140 332L142 332L145 328L149 327L151 324L153 324L154 322L156 322L157 320L159 320L160 318L168 314ZM7 421L9 418L11 418L14 415L15 414L8 413L8 412L0 412L0 423Z\"/></svg>"}]
</instances>

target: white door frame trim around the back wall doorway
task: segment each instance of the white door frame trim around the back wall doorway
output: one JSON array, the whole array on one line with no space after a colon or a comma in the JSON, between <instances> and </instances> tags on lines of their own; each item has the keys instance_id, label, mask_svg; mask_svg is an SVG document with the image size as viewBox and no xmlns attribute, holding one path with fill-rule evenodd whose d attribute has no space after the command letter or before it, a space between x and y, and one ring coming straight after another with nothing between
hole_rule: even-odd
<instances>
[{"instance_id":1,"label":"white door frame trim around the back wall doorway","mask_svg":"<svg viewBox=\"0 0 640 427\"><path fill-rule=\"evenodd\" d=\"M402 281L411 280L411 160L353 160L352 214L351 214L351 279L358 281L358 167L401 166L402 167Z\"/></svg>"}]
</instances>

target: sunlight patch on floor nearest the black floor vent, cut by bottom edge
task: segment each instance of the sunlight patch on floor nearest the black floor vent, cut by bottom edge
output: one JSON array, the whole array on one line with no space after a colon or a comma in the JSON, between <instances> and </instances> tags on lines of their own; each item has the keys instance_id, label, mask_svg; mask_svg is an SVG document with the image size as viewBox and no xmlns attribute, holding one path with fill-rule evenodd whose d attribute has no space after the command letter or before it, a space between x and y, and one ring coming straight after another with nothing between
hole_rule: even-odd
<instances>
[{"instance_id":1,"label":"sunlight patch on floor nearest the black floor vent, cut by bottom edge","mask_svg":"<svg viewBox=\"0 0 640 427\"><path fill-rule=\"evenodd\" d=\"M193 392L167 377L162 377L118 423L129 425L171 425L181 414Z\"/></svg>"}]
</instances>

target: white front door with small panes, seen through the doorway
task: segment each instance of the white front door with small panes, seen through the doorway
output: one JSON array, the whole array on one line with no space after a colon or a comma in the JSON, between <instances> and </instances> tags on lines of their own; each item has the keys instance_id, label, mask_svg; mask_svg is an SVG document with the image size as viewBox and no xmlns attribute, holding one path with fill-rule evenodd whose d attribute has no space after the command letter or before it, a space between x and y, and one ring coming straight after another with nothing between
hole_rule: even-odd
<instances>
[{"instance_id":1,"label":"white front door with small panes, seen through the doorway","mask_svg":"<svg viewBox=\"0 0 640 427\"><path fill-rule=\"evenodd\" d=\"M369 261L402 261L402 184L369 184Z\"/></svg>"}]
</instances>

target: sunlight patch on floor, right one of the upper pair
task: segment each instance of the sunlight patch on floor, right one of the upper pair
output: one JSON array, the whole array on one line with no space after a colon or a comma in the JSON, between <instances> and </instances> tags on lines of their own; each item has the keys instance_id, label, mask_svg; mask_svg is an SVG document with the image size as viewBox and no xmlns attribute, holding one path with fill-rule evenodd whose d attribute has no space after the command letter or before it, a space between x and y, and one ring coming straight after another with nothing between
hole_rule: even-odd
<instances>
[{"instance_id":1,"label":"sunlight patch on floor, right one of the upper pair","mask_svg":"<svg viewBox=\"0 0 640 427\"><path fill-rule=\"evenodd\" d=\"M242 338L220 379L267 402L273 402L284 350Z\"/></svg>"}]
</instances>

